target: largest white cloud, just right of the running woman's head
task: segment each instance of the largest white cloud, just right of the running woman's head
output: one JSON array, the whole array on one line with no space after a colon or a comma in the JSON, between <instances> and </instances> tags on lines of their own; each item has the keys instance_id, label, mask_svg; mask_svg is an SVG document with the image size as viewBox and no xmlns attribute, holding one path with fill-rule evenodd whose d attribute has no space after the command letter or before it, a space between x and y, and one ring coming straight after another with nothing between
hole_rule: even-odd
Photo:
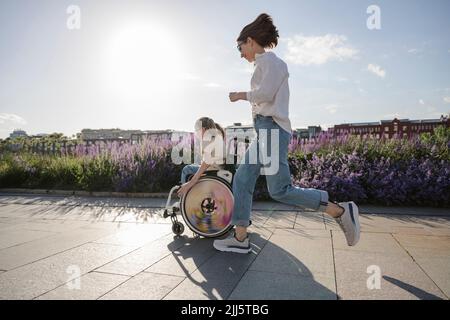
<instances>
[{"instance_id":1,"label":"largest white cloud, just right of the running woman's head","mask_svg":"<svg viewBox=\"0 0 450 320\"><path fill-rule=\"evenodd\" d=\"M322 65L328 61L355 58L358 50L347 44L347 37L337 34L284 38L287 43L286 60L299 65Z\"/></svg>"}]
</instances>

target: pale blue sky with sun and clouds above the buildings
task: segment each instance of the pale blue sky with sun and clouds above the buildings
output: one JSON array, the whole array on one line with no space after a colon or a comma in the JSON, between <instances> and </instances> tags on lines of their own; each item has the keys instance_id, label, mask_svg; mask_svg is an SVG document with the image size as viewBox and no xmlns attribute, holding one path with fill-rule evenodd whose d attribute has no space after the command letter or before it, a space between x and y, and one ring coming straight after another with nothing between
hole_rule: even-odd
<instances>
[{"instance_id":1,"label":"pale blue sky with sun and clouds above the buildings","mask_svg":"<svg viewBox=\"0 0 450 320\"><path fill-rule=\"evenodd\" d=\"M81 12L70 30L67 8ZM369 30L368 6L381 12ZM236 38L258 14L280 31L294 128L450 111L450 1L1 1L0 137L83 128L251 123L253 65Z\"/></svg>"}]
</instances>

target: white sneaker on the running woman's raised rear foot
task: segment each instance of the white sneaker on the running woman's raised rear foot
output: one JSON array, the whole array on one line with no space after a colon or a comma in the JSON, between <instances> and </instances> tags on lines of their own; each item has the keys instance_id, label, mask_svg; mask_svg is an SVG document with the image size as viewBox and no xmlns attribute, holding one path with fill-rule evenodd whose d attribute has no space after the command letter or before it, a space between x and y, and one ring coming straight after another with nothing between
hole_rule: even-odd
<instances>
[{"instance_id":1,"label":"white sneaker on the running woman's raised rear foot","mask_svg":"<svg viewBox=\"0 0 450 320\"><path fill-rule=\"evenodd\" d=\"M335 220L344 232L347 244L354 246L358 243L360 234L358 206L353 201L340 202L338 205L344 208L344 213Z\"/></svg>"}]
</instances>

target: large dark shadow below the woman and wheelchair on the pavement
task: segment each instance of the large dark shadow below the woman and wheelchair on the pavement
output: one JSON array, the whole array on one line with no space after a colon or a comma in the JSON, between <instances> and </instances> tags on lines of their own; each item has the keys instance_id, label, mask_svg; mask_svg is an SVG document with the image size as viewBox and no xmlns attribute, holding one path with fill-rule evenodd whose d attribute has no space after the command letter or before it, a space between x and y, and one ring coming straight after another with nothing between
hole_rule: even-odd
<instances>
[{"instance_id":1,"label":"large dark shadow below the woman and wheelchair on the pavement","mask_svg":"<svg viewBox=\"0 0 450 320\"><path fill-rule=\"evenodd\" d=\"M197 255L195 251L184 250L179 246L178 249L174 248L176 241L169 244L168 249L185 273L184 282L190 282L185 286L181 284L183 288L175 295L175 298L194 300L205 298L213 300L337 299L336 292L317 282L311 271L301 261L279 246L277 246L280 250L280 254L276 256L277 264L289 265L293 267L292 269L298 270L297 274L252 270L252 275L245 279L244 273L258 258L267 243L267 240L258 233L250 233L250 237L253 251L249 254L219 252L213 248L214 239L196 238L191 246L209 245L211 247L211 256L206 261L202 254ZM187 259L194 261L197 270L189 272L184 266L184 261ZM262 281L253 282L252 280L255 279ZM196 287L200 288L200 292L196 290ZM195 292L192 293L193 291ZM182 296L183 292L187 294L185 297Z\"/></svg>"}]
</instances>

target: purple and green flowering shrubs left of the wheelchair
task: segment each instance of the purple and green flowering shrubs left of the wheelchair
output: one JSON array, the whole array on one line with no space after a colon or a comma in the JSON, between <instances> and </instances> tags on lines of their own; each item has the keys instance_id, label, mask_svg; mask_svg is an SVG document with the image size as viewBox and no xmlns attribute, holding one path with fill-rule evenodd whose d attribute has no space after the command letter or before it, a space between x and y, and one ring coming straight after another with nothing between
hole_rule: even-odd
<instances>
[{"instance_id":1,"label":"purple and green flowering shrubs left of the wheelchair","mask_svg":"<svg viewBox=\"0 0 450 320\"><path fill-rule=\"evenodd\" d=\"M0 187L163 192L179 181L170 141L77 146L74 155L2 154ZM64 151L64 150L63 150Z\"/></svg>"}]
</instances>

